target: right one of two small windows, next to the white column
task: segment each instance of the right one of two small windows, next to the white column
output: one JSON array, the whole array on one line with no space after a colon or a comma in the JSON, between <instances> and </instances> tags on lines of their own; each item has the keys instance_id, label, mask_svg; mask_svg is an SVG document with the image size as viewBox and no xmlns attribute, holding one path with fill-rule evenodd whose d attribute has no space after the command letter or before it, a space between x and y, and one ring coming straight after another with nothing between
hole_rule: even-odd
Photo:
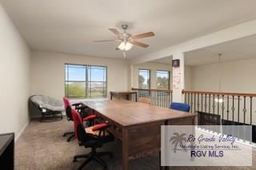
<instances>
[{"instance_id":1,"label":"right one of two small windows, next to the white column","mask_svg":"<svg viewBox=\"0 0 256 170\"><path fill-rule=\"evenodd\" d=\"M170 71L157 71L157 89L170 89Z\"/></svg>"}]
</instances>

